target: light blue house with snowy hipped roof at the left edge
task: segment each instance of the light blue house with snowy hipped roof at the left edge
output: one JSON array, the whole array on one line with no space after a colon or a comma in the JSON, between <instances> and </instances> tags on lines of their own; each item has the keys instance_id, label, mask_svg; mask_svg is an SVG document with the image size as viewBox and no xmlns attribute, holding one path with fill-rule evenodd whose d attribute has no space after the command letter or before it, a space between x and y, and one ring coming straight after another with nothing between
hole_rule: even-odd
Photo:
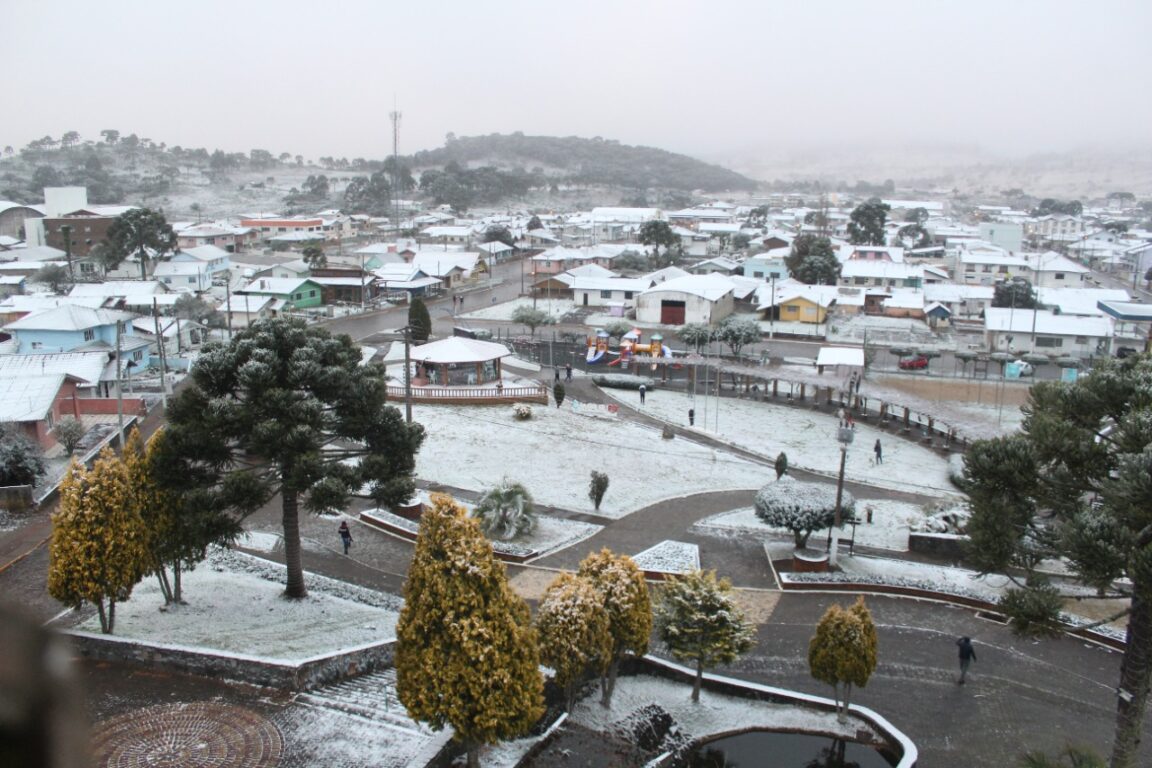
<instances>
[{"instance_id":1,"label":"light blue house with snowy hipped roof at the left edge","mask_svg":"<svg viewBox=\"0 0 1152 768\"><path fill-rule=\"evenodd\" d=\"M3 326L2 330L16 340L20 355L43 352L71 352L92 349L116 349L116 326L120 326L121 359L131 367L147 367L151 363L149 342L136 335L131 320L136 315L121 310L93 310L76 304L63 304L51 310L33 312Z\"/></svg>"}]
</instances>

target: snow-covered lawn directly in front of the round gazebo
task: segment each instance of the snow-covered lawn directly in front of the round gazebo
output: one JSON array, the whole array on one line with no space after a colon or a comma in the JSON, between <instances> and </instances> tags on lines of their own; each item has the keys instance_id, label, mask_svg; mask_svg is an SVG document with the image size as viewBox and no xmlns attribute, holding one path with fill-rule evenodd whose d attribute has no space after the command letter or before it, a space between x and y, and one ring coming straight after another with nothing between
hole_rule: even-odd
<instances>
[{"instance_id":1,"label":"snow-covered lawn directly in front of the round gazebo","mask_svg":"<svg viewBox=\"0 0 1152 768\"><path fill-rule=\"evenodd\" d=\"M771 470L659 429L564 408L533 408L526 421L511 408L416 405L427 436L417 456L423 480L483 492L502 477L522 482L537 504L619 519L661 500L700 491L755 489ZM588 497L596 470L608 476L599 512Z\"/></svg>"}]
</instances>

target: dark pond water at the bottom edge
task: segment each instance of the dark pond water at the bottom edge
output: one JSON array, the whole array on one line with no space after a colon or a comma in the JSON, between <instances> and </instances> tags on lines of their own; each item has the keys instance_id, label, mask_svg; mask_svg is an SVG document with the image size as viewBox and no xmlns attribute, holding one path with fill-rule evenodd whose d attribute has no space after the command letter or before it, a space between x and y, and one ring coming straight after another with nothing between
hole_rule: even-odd
<instances>
[{"instance_id":1,"label":"dark pond water at the bottom edge","mask_svg":"<svg viewBox=\"0 0 1152 768\"><path fill-rule=\"evenodd\" d=\"M677 768L892 768L897 760L857 742L829 736L748 731L697 745Z\"/></svg>"}]
</instances>

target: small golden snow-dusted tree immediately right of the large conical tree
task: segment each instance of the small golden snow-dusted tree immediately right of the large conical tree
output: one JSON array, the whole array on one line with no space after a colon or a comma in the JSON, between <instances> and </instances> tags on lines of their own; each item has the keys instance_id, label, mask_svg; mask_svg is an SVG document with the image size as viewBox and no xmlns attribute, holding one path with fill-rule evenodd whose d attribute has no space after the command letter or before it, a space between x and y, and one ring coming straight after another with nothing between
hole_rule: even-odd
<instances>
[{"instance_id":1,"label":"small golden snow-dusted tree immediately right of the large conical tree","mask_svg":"<svg viewBox=\"0 0 1152 768\"><path fill-rule=\"evenodd\" d=\"M592 675L602 675L612 654L608 613L600 593L578 576L559 575L540 601L536 630L540 662L552 668L552 680L563 691L571 712L581 685Z\"/></svg>"}]
</instances>

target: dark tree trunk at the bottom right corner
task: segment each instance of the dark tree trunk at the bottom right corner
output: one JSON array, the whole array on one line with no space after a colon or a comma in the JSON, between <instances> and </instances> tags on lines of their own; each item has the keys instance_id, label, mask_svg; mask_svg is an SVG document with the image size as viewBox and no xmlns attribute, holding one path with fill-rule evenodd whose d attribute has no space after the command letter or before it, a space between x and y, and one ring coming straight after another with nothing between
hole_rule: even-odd
<instances>
[{"instance_id":1,"label":"dark tree trunk at the bottom right corner","mask_svg":"<svg viewBox=\"0 0 1152 768\"><path fill-rule=\"evenodd\" d=\"M1111 768L1132 768L1140 744L1144 713L1147 707L1149 682L1152 677L1152 602L1147 585L1132 591L1132 609L1128 616L1124 659L1120 666L1120 691L1116 697L1116 732L1112 740ZM1126 694L1130 699L1126 700Z\"/></svg>"}]
</instances>

